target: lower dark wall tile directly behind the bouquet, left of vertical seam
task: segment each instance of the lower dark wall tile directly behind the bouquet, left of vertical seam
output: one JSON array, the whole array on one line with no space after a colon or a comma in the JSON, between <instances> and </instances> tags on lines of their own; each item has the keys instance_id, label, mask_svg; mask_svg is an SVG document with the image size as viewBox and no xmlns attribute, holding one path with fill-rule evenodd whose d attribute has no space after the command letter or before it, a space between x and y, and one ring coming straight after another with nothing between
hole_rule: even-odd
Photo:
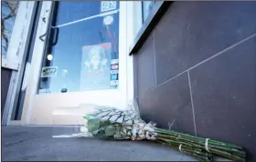
<instances>
[{"instance_id":1,"label":"lower dark wall tile directly behind the bouquet, left of vertical seam","mask_svg":"<svg viewBox=\"0 0 256 162\"><path fill-rule=\"evenodd\" d=\"M139 103L146 121L169 128L175 120L172 129L195 135L187 74L146 91Z\"/></svg>"}]
</instances>

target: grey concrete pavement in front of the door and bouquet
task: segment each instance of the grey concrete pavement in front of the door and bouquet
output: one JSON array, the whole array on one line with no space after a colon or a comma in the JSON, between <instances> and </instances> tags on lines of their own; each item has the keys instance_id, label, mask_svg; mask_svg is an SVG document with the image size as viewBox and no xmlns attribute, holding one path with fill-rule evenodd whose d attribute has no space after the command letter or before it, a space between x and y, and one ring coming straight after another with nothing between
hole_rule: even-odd
<instances>
[{"instance_id":1,"label":"grey concrete pavement in front of the door and bouquet","mask_svg":"<svg viewBox=\"0 0 256 162\"><path fill-rule=\"evenodd\" d=\"M68 127L2 127L2 160L196 160L171 147L145 141L52 137L71 131Z\"/></svg>"}]
</instances>

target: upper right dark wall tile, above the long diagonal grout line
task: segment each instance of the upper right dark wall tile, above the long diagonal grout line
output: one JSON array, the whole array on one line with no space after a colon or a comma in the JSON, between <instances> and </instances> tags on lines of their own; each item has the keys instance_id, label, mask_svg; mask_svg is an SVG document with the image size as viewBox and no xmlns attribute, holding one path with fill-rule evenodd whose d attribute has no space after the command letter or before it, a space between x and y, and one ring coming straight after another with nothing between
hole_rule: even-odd
<instances>
[{"instance_id":1,"label":"upper right dark wall tile, above the long diagonal grout line","mask_svg":"<svg viewBox=\"0 0 256 162\"><path fill-rule=\"evenodd\" d=\"M157 85L254 33L255 16L255 2L173 3L155 27Z\"/></svg>"}]
</instances>

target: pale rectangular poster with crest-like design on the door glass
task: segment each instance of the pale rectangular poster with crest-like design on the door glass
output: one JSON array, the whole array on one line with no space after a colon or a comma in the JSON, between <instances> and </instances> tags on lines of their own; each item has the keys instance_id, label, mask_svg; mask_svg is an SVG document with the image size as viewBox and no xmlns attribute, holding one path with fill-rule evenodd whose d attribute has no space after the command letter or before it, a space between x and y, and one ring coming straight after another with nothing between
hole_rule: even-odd
<instances>
[{"instance_id":1,"label":"pale rectangular poster with crest-like design on the door glass","mask_svg":"<svg viewBox=\"0 0 256 162\"><path fill-rule=\"evenodd\" d=\"M110 88L111 54L111 43L82 47L80 90Z\"/></svg>"}]
</instances>

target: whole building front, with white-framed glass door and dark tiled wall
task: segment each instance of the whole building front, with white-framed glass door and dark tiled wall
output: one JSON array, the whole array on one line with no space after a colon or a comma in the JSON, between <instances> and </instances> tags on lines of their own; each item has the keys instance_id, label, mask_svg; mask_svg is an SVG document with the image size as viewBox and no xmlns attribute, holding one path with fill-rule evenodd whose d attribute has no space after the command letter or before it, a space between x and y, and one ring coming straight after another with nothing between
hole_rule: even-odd
<instances>
[{"instance_id":1,"label":"whole building front, with white-framed glass door and dark tiled wall","mask_svg":"<svg viewBox=\"0 0 256 162\"><path fill-rule=\"evenodd\" d=\"M2 123L72 125L62 110L135 98L146 121L235 143L255 160L255 8L22 1L2 60Z\"/></svg>"}]
</instances>

